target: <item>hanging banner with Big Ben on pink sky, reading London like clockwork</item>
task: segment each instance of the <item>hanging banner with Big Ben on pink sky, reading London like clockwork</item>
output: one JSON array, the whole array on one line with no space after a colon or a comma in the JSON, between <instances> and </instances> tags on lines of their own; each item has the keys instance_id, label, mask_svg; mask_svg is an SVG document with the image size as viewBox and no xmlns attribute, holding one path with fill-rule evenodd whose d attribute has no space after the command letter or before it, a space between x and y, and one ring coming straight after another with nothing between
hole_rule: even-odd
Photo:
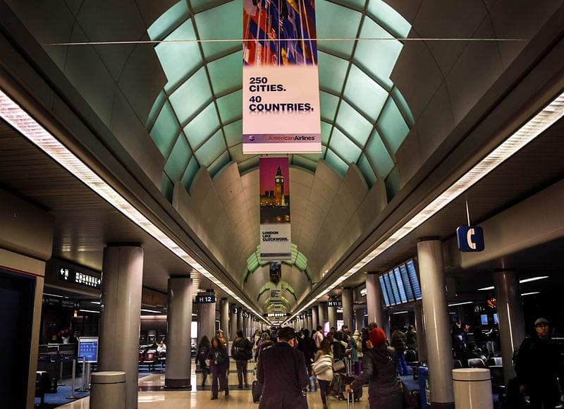
<instances>
[{"instance_id":1,"label":"hanging banner with Big Ben on pink sky, reading London like clockwork","mask_svg":"<svg viewBox=\"0 0 564 409\"><path fill-rule=\"evenodd\" d=\"M288 158L259 159L260 258L290 260L290 171Z\"/></svg>"}]
</instances>

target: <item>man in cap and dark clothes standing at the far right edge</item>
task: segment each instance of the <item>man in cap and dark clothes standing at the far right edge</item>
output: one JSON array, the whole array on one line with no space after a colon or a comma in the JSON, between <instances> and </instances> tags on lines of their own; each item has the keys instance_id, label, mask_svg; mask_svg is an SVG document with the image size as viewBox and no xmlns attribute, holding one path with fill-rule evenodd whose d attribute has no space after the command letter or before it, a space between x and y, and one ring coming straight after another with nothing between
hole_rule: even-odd
<instances>
[{"instance_id":1,"label":"man in cap and dark clothes standing at the far right edge","mask_svg":"<svg viewBox=\"0 0 564 409\"><path fill-rule=\"evenodd\" d=\"M525 338L515 357L517 382L529 396L532 409L553 409L560 398L556 378L564 381L560 346L549 336L548 319L538 318L534 329L536 334Z\"/></svg>"}]
</instances>

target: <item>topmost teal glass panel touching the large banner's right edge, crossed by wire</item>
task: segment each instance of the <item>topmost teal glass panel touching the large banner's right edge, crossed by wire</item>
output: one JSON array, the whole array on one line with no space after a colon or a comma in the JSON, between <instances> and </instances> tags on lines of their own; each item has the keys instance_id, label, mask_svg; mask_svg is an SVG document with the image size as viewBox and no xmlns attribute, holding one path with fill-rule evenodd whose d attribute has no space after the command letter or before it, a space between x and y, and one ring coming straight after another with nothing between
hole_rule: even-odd
<instances>
[{"instance_id":1,"label":"topmost teal glass panel touching the large banner's right edge, crossed by wire","mask_svg":"<svg viewBox=\"0 0 564 409\"><path fill-rule=\"evenodd\" d=\"M315 4L317 22L317 37L322 38L350 38L357 36L358 25L362 14L358 11L338 6L330 1L317 1ZM346 22L346 23L345 23ZM353 52L354 41L320 41L320 50L330 51L332 54L347 57ZM321 66L321 63L319 64Z\"/></svg>"}]
</instances>

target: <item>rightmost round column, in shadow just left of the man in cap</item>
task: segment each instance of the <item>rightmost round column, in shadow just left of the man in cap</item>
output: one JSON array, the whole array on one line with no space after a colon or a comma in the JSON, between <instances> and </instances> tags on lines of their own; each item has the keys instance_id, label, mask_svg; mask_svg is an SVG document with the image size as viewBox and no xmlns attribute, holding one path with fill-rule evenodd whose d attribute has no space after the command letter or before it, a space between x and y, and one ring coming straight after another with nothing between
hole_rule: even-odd
<instances>
[{"instance_id":1,"label":"rightmost round column, in shadow just left of the man in cap","mask_svg":"<svg viewBox=\"0 0 564 409\"><path fill-rule=\"evenodd\" d=\"M515 377L513 351L525 339L525 319L517 273L511 270L498 271L494 273L494 284L503 358L503 377L507 384L509 379Z\"/></svg>"}]
</instances>

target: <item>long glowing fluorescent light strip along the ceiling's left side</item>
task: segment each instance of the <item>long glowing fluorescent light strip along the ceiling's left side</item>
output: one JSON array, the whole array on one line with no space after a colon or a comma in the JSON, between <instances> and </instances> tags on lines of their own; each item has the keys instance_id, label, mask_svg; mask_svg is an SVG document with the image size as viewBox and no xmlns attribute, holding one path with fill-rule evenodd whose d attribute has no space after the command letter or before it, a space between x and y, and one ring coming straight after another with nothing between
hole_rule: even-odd
<instances>
[{"instance_id":1,"label":"long glowing fluorescent light strip along the ceiling's left side","mask_svg":"<svg viewBox=\"0 0 564 409\"><path fill-rule=\"evenodd\" d=\"M263 319L262 315L259 315L252 307L243 302L238 295L235 295L233 291L216 279L207 269L204 269L200 263L196 262L196 260L180 248L178 244L166 236L166 233L161 231L160 228L152 224L147 217L135 209L132 204L125 200L125 198L116 192L106 181L94 173L84 162L78 159L73 152L61 144L59 140L27 114L16 102L13 102L2 90L0 90L0 117L24 135L25 138L37 145L39 149L42 149L43 152L48 154L58 164L63 166L63 168L76 176L82 183L85 183L90 189L94 190L102 199L118 209L119 212L128 217L133 223L159 240L162 245L180 257L186 264L199 271L204 277L215 283L216 286L219 286L219 288L235 298L240 304L245 305L248 310L254 312L257 317ZM269 324L268 321L264 319L263 321Z\"/></svg>"}]
</instances>

